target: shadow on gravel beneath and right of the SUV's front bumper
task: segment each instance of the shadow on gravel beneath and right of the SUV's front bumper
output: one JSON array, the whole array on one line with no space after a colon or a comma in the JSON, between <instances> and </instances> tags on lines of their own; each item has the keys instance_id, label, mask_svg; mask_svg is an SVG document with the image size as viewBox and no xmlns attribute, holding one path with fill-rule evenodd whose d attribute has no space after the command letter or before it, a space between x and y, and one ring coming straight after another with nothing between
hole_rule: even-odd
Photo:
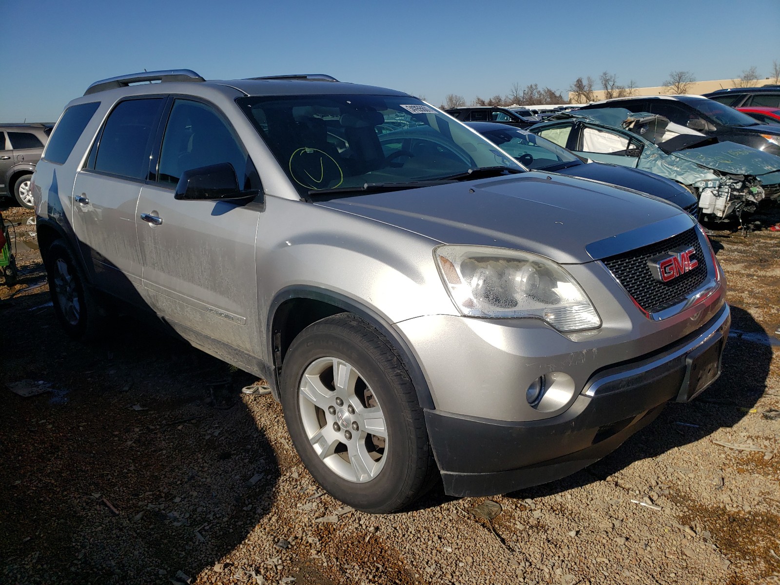
<instances>
[{"instance_id":1,"label":"shadow on gravel beneath and right of the SUV's front bumper","mask_svg":"<svg viewBox=\"0 0 780 585\"><path fill-rule=\"evenodd\" d=\"M661 415L634 434L615 452L569 477L512 492L511 498L539 498L581 488L605 480L631 463L651 459L675 447L705 438L722 427L733 427L755 406L765 392L772 358L770 339L750 313L731 307L732 331L756 335L731 335L726 343L722 374L710 388L689 403L671 402Z\"/></svg>"}]
</instances>

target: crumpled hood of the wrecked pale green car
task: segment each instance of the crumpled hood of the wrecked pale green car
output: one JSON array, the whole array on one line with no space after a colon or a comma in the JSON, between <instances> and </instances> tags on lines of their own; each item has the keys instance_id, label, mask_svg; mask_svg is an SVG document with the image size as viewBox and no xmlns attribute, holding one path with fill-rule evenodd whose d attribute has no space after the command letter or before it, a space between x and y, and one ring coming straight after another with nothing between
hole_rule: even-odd
<instances>
[{"instance_id":1,"label":"crumpled hood of the wrecked pale green car","mask_svg":"<svg viewBox=\"0 0 780 585\"><path fill-rule=\"evenodd\" d=\"M672 156L731 175L761 176L780 171L780 157L728 141L675 151Z\"/></svg>"}]
</instances>

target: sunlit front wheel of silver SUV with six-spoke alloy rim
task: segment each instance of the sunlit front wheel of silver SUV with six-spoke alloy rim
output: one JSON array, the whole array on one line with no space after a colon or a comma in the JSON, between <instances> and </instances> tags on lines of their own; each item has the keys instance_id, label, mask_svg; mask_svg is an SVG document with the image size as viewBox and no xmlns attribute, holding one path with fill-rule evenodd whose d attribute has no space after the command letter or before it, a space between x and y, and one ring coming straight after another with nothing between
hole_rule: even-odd
<instances>
[{"instance_id":1,"label":"sunlit front wheel of silver SUV with six-spoke alloy rim","mask_svg":"<svg viewBox=\"0 0 780 585\"><path fill-rule=\"evenodd\" d=\"M354 314L327 317L293 340L282 406L300 458L328 493L363 512L394 512L435 477L425 419L406 368Z\"/></svg>"}]
</instances>

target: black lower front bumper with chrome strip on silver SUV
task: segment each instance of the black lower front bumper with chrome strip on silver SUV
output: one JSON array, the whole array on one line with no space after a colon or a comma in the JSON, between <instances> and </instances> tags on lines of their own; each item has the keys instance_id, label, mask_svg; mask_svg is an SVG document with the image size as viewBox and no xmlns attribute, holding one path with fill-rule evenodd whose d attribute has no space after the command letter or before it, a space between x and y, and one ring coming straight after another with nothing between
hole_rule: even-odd
<instances>
[{"instance_id":1,"label":"black lower front bumper with chrome strip on silver SUV","mask_svg":"<svg viewBox=\"0 0 780 585\"><path fill-rule=\"evenodd\" d=\"M558 416L523 422L426 410L445 491L503 494L565 477L617 449L666 402L686 402L720 372L728 305L704 327L648 356L597 371Z\"/></svg>"}]
</instances>

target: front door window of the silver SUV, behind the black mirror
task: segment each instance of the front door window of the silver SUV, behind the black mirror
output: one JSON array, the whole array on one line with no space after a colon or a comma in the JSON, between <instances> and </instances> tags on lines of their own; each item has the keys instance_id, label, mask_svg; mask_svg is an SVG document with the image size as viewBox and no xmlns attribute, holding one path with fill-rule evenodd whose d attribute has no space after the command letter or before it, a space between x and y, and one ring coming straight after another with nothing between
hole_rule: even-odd
<instances>
[{"instance_id":1,"label":"front door window of the silver SUV, behind the black mirror","mask_svg":"<svg viewBox=\"0 0 780 585\"><path fill-rule=\"evenodd\" d=\"M174 102L162 140L159 182L175 185L192 168L229 162L239 186L248 189L246 161L246 151L232 129L212 108L197 101Z\"/></svg>"}]
</instances>

